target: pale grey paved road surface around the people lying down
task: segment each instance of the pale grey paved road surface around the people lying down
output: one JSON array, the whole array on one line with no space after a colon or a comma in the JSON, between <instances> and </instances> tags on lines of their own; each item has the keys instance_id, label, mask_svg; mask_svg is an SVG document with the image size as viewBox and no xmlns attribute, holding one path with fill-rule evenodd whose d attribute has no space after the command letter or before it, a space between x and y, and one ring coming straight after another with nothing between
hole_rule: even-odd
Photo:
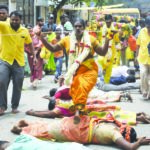
<instances>
[{"instance_id":1,"label":"pale grey paved road surface around the people lying down","mask_svg":"<svg viewBox=\"0 0 150 150\"><path fill-rule=\"evenodd\" d=\"M12 85L9 86L8 92L8 110L4 116L0 117L0 139L13 141L16 135L10 132L11 127L18 122L20 119L27 119L27 120L48 120L49 122L54 121L54 119L41 119L32 116L25 115L25 111L31 108L43 110L47 109L48 101L43 99L42 96L48 95L49 89L52 87L57 87L54 84L53 76L45 76L37 88L37 90L33 90L31 84L29 82L29 78L25 78L24 86L22 91L22 98L20 102L19 110L21 111L19 114L11 114L11 107L10 107L10 99L12 93ZM143 101L141 100L141 96L139 95L138 91L131 92L132 97L134 99L133 103L129 102L120 102L117 105L121 106L124 110L132 110L135 112L145 111L146 113L150 114L150 101ZM136 127L137 133L139 136L149 136L150 137L150 125L146 124L139 124ZM108 146L98 146L98 145L89 145L92 150L115 150L115 147L108 147ZM140 150L150 150L150 146L143 146Z\"/></svg>"}]
</instances>

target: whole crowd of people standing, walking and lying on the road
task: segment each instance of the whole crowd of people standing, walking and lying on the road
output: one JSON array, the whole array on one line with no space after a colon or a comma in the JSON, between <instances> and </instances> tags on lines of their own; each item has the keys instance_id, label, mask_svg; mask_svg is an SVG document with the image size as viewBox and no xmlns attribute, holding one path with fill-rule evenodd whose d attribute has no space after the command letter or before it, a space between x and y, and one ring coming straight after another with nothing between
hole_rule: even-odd
<instances>
[{"instance_id":1,"label":"whole crowd of people standing, walking and lying on the road","mask_svg":"<svg viewBox=\"0 0 150 150\"><path fill-rule=\"evenodd\" d=\"M120 18L111 14L90 22L76 18L71 23L68 15L62 14L61 24L57 25L54 15L49 14L48 22L44 23L44 19L38 17L36 26L27 24L25 27L21 19L18 11L11 12L8 17L8 7L0 5L0 115L4 115L7 109L10 80L13 83L12 113L19 112L25 68L29 64L33 88L37 88L42 80L43 70L46 74L54 74L54 81L60 87L50 91L48 111L29 110L26 114L67 118L54 124L22 120L11 132L43 140L115 143L127 150L150 144L150 139L137 138L136 131L130 126L130 123L135 125L139 121L150 123L149 115L144 112L125 113L117 106L106 104L98 96L100 100L89 99L98 78L105 84L135 82L135 71L139 68L142 97L150 98L149 16L138 23L132 17ZM64 58L66 71L62 75ZM117 74L114 68L130 67L130 62L133 62L132 70L128 68L124 74L114 76ZM128 117L121 120L121 114L128 114ZM2 141L0 146L7 144Z\"/></svg>"}]
</instances>

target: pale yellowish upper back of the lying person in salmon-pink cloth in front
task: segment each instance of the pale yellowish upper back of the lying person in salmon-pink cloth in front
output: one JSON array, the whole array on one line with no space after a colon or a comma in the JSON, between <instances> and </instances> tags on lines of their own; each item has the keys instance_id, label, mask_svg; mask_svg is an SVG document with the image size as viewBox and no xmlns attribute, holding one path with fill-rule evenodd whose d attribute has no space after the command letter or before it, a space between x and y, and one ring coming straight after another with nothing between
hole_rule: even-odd
<instances>
[{"instance_id":1,"label":"pale yellowish upper back of the lying person in salmon-pink cloth in front","mask_svg":"<svg viewBox=\"0 0 150 150\"><path fill-rule=\"evenodd\" d=\"M112 144L122 138L119 129L111 123L99 123L93 129L93 141L96 144Z\"/></svg>"}]
</instances>

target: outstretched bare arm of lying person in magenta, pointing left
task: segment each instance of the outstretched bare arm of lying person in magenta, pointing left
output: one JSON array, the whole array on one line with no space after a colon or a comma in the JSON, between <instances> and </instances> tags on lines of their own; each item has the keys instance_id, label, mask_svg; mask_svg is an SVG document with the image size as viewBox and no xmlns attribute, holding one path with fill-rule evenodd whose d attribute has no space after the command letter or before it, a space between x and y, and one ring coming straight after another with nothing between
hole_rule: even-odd
<instances>
[{"instance_id":1,"label":"outstretched bare arm of lying person in magenta, pointing left","mask_svg":"<svg viewBox=\"0 0 150 150\"><path fill-rule=\"evenodd\" d=\"M60 117L59 114L56 114L54 111L34 111L34 110L28 110L26 112L27 115L30 116L36 116L36 117L41 117L41 118L55 118L55 117Z\"/></svg>"}]
</instances>

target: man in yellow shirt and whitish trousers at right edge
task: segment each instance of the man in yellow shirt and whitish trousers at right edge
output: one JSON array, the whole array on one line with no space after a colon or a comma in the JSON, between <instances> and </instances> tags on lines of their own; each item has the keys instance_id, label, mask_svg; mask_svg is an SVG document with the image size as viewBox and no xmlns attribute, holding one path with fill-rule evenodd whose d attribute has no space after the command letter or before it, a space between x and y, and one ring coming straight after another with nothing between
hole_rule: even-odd
<instances>
[{"instance_id":1,"label":"man in yellow shirt and whitish trousers at right edge","mask_svg":"<svg viewBox=\"0 0 150 150\"><path fill-rule=\"evenodd\" d=\"M150 16L145 20L145 28L141 29L138 39L137 59L140 65L141 92L143 99L150 99Z\"/></svg>"}]
</instances>

